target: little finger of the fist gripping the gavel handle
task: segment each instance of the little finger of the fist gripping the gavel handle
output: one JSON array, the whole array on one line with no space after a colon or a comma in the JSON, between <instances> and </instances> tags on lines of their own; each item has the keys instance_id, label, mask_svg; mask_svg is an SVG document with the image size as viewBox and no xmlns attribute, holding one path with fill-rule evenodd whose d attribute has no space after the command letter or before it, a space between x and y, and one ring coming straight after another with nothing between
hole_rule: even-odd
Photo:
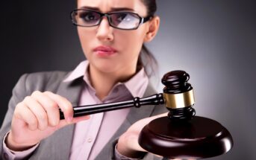
<instances>
[{"instance_id":1,"label":"little finger of the fist gripping the gavel handle","mask_svg":"<svg viewBox=\"0 0 256 160\"><path fill-rule=\"evenodd\" d=\"M13 116L25 124L28 124L28 129L37 129L38 122L36 116L31 112L30 109L25 105L25 103L18 103L16 109L14 110Z\"/></svg>"}]
</instances>

